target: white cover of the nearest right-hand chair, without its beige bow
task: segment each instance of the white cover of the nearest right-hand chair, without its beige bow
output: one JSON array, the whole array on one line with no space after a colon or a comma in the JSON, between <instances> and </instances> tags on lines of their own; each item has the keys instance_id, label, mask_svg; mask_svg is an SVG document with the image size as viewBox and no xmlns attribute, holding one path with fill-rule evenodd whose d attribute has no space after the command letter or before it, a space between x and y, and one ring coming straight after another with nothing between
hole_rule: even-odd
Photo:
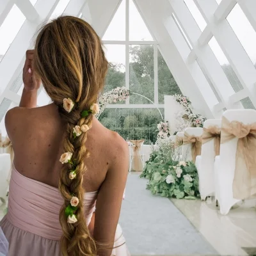
<instances>
[{"instance_id":1,"label":"white cover of the nearest right-hand chair, without its beige bow","mask_svg":"<svg viewBox=\"0 0 256 256\"><path fill-rule=\"evenodd\" d=\"M229 122L238 121L247 125L256 122L256 111L253 109L227 110L223 113L223 117L227 118ZM221 129L223 129L223 121ZM220 156L216 157L214 164L215 196L220 205L220 213L223 215L228 214L231 207L240 201L233 196L237 142L238 138L234 138L226 143L221 143Z\"/></svg>"}]
</instances>

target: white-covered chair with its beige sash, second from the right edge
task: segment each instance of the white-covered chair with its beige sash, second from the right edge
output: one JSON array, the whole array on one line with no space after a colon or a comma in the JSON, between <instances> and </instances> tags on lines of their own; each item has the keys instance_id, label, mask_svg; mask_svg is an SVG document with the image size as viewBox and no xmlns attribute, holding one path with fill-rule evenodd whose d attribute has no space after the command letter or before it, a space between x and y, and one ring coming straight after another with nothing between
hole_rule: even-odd
<instances>
[{"instance_id":1,"label":"white-covered chair with its beige sash, second from the right edge","mask_svg":"<svg viewBox=\"0 0 256 256\"><path fill-rule=\"evenodd\" d=\"M201 199L214 195L214 161L220 154L221 119L204 122L201 156L196 156Z\"/></svg>"}]
</instances>

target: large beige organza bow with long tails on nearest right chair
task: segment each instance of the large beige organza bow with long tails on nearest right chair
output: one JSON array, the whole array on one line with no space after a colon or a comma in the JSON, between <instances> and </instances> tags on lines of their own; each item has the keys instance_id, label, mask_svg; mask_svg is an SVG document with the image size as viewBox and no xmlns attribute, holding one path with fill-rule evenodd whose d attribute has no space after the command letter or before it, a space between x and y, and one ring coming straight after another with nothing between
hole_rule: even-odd
<instances>
[{"instance_id":1,"label":"large beige organza bow with long tails on nearest right chair","mask_svg":"<svg viewBox=\"0 0 256 256\"><path fill-rule=\"evenodd\" d=\"M238 138L233 197L246 199L256 194L256 123L245 125L223 117L221 144Z\"/></svg>"}]
</instances>

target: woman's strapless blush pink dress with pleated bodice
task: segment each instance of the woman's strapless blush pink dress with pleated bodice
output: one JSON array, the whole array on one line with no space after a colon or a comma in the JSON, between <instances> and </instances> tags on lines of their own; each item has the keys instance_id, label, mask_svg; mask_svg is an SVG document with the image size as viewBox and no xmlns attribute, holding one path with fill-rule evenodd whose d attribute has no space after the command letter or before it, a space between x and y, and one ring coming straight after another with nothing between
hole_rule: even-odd
<instances>
[{"instance_id":1,"label":"woman's strapless blush pink dress with pleated bodice","mask_svg":"<svg viewBox=\"0 0 256 256\"><path fill-rule=\"evenodd\" d=\"M95 211L97 191L84 195L86 222ZM21 175L13 166L8 213L0 221L9 242L8 256L61 256L59 212L63 198L57 188ZM130 256L120 225L111 255Z\"/></svg>"}]
</instances>

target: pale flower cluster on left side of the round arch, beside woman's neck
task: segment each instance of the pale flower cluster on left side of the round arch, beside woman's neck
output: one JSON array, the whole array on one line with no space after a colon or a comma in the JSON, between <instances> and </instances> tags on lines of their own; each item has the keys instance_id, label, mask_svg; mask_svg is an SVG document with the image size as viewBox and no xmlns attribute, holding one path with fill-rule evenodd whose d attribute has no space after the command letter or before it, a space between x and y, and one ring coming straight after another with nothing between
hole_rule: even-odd
<instances>
[{"instance_id":1,"label":"pale flower cluster on left side of the round arch, beside woman's neck","mask_svg":"<svg viewBox=\"0 0 256 256\"><path fill-rule=\"evenodd\" d=\"M123 87L116 87L113 90L103 93L99 97L99 113L96 115L99 118L100 114L104 111L107 104L111 104L113 102L124 101L128 99L131 95L131 91L127 88Z\"/></svg>"}]
</instances>

